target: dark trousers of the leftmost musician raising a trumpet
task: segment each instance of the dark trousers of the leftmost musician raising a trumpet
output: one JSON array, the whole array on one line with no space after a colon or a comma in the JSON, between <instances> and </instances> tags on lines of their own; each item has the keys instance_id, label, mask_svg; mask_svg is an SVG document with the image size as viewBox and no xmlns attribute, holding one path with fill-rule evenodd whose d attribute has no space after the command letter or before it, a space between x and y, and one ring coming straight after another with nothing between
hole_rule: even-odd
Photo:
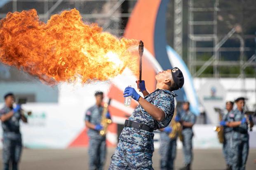
<instances>
[{"instance_id":1,"label":"dark trousers of the leftmost musician raising a trumpet","mask_svg":"<svg viewBox=\"0 0 256 170\"><path fill-rule=\"evenodd\" d=\"M9 170L9 165L12 165L12 170L18 170L18 163L21 157L22 142L21 138L9 139L3 138L2 162L3 170Z\"/></svg>"}]
</instances>

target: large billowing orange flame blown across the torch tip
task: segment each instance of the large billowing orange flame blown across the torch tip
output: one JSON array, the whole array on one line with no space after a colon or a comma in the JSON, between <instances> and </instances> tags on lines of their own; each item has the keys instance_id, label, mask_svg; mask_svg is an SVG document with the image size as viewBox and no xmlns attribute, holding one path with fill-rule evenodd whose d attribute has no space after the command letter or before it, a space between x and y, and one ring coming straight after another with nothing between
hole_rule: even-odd
<instances>
[{"instance_id":1,"label":"large billowing orange flame blown across the torch tip","mask_svg":"<svg viewBox=\"0 0 256 170\"><path fill-rule=\"evenodd\" d=\"M131 48L138 44L102 32L95 23L86 25L76 9L55 14L46 24L35 9L9 12L0 21L0 62L49 85L108 80L126 67L136 72Z\"/></svg>"}]
</instances>

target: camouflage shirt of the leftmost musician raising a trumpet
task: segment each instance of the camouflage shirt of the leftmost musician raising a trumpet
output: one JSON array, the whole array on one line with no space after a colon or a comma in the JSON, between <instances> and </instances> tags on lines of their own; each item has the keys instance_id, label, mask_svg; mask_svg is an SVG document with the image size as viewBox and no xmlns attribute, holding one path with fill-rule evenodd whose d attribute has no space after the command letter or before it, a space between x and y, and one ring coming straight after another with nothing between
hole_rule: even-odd
<instances>
[{"instance_id":1,"label":"camouflage shirt of the leftmost musician raising a trumpet","mask_svg":"<svg viewBox=\"0 0 256 170\"><path fill-rule=\"evenodd\" d=\"M7 106L4 106L0 110L0 116L5 115L12 111L12 108L9 108ZM21 119L21 114L19 112L14 113L14 115L6 120L5 122L2 122L2 129L3 129L3 135L7 138L20 138L21 133L19 131L19 121Z\"/></svg>"}]
</instances>

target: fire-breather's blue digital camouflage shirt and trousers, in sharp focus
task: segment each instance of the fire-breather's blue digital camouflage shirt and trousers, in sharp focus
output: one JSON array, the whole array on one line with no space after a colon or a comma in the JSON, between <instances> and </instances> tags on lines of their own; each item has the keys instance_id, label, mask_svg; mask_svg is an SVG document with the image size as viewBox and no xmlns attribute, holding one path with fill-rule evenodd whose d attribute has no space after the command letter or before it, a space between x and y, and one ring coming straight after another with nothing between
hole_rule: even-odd
<instances>
[{"instance_id":1,"label":"fire-breather's blue digital camouflage shirt and trousers, in sharp focus","mask_svg":"<svg viewBox=\"0 0 256 170\"><path fill-rule=\"evenodd\" d=\"M147 124L154 129L162 129L168 126L174 113L175 96L176 94L169 90L159 89L145 96L148 102L164 111L165 119L162 122L153 119L141 105L135 108L129 120ZM119 137L120 141L112 156L109 170L152 170L153 137L154 133L124 127Z\"/></svg>"}]
</instances>

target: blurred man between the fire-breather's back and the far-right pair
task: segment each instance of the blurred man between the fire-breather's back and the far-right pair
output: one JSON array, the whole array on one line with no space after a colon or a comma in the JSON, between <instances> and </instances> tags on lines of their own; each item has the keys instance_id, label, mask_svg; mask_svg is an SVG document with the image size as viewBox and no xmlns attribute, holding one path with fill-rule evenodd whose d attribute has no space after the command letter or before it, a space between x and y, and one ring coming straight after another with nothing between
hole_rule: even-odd
<instances>
[{"instance_id":1,"label":"blurred man between the fire-breather's back and the far-right pair","mask_svg":"<svg viewBox=\"0 0 256 170\"><path fill-rule=\"evenodd\" d=\"M192 127L196 122L196 116L189 110L190 103L188 101L183 102L181 112L177 113L175 117L176 122L180 122L182 126L182 145L183 145L183 156L184 156L184 167L180 170L190 170L190 166L193 160L193 146L192 138L194 136Z\"/></svg>"}]
</instances>

